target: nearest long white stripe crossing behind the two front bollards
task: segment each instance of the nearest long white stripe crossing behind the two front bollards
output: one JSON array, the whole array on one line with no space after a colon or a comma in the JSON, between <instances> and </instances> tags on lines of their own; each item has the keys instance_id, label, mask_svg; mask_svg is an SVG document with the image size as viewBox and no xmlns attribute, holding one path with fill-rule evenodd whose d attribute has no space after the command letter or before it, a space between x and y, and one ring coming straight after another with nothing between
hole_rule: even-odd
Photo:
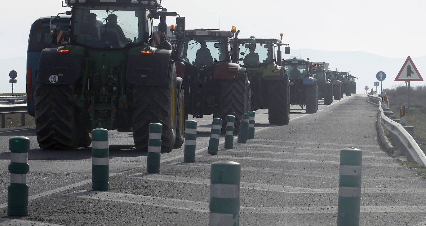
<instances>
[{"instance_id":1,"label":"nearest long white stripe crossing behind the two front bollards","mask_svg":"<svg viewBox=\"0 0 426 226\"><path fill-rule=\"evenodd\" d=\"M148 206L160 206L195 212L209 212L209 203L173 198L133 195L116 192L96 192L78 190L68 197L108 200L123 203L135 203ZM426 206L361 206L360 212L426 212ZM310 214L337 213L337 206L241 206L241 214Z\"/></svg>"}]
</instances>

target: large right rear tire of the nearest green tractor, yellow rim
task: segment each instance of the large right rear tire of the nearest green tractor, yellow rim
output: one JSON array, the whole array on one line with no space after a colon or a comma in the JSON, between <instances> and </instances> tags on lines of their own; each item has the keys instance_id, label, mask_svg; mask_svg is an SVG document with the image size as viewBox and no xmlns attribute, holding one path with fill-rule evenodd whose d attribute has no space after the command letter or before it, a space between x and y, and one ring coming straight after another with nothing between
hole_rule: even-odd
<instances>
[{"instance_id":1,"label":"large right rear tire of the nearest green tractor, yellow rim","mask_svg":"<svg viewBox=\"0 0 426 226\"><path fill-rule=\"evenodd\" d=\"M163 125L162 152L170 152L175 146L178 97L173 60L170 60L167 76L164 85L133 85L133 140L138 150L148 149L150 123Z\"/></svg>"}]
</instances>

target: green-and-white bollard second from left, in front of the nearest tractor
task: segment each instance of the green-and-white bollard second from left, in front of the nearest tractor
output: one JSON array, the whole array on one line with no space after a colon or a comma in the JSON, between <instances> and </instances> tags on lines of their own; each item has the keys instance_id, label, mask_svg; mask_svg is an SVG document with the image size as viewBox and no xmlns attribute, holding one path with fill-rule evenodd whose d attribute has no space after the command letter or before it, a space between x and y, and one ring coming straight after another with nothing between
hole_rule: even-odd
<instances>
[{"instance_id":1,"label":"green-and-white bollard second from left, in front of the nearest tractor","mask_svg":"<svg viewBox=\"0 0 426 226\"><path fill-rule=\"evenodd\" d=\"M107 129L92 130L92 190L109 188L109 144Z\"/></svg>"}]
</instances>

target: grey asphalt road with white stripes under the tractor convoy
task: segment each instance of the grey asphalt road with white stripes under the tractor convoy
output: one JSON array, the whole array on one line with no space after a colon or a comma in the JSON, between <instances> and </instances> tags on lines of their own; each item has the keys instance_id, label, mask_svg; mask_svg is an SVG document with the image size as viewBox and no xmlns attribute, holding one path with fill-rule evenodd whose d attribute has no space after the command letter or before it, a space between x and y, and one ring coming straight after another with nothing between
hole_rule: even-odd
<instances>
[{"instance_id":1,"label":"grey asphalt road with white stripes under the tractor convoy","mask_svg":"<svg viewBox=\"0 0 426 226\"><path fill-rule=\"evenodd\" d=\"M340 149L363 150L360 225L426 225L426 180L380 149L377 107L353 94L317 114L291 108L287 126L256 111L255 139L207 154L212 117L197 118L196 163L183 148L161 154L161 173L145 174L146 152L131 133L109 132L109 190L91 191L91 149L46 151L34 129L0 132L1 225L208 225L210 163L241 163L240 225L336 225ZM31 139L29 216L7 217L8 139Z\"/></svg>"}]
</instances>

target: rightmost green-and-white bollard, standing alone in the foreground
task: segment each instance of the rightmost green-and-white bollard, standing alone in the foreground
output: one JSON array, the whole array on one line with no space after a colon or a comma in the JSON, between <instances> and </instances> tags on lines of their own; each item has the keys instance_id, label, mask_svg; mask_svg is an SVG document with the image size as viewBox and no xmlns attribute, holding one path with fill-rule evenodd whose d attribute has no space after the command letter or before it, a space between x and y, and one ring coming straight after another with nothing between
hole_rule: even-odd
<instances>
[{"instance_id":1,"label":"rightmost green-and-white bollard, standing alone in the foreground","mask_svg":"<svg viewBox=\"0 0 426 226\"><path fill-rule=\"evenodd\" d=\"M340 150L337 226L360 225L362 163L363 151L351 147Z\"/></svg>"}]
</instances>

